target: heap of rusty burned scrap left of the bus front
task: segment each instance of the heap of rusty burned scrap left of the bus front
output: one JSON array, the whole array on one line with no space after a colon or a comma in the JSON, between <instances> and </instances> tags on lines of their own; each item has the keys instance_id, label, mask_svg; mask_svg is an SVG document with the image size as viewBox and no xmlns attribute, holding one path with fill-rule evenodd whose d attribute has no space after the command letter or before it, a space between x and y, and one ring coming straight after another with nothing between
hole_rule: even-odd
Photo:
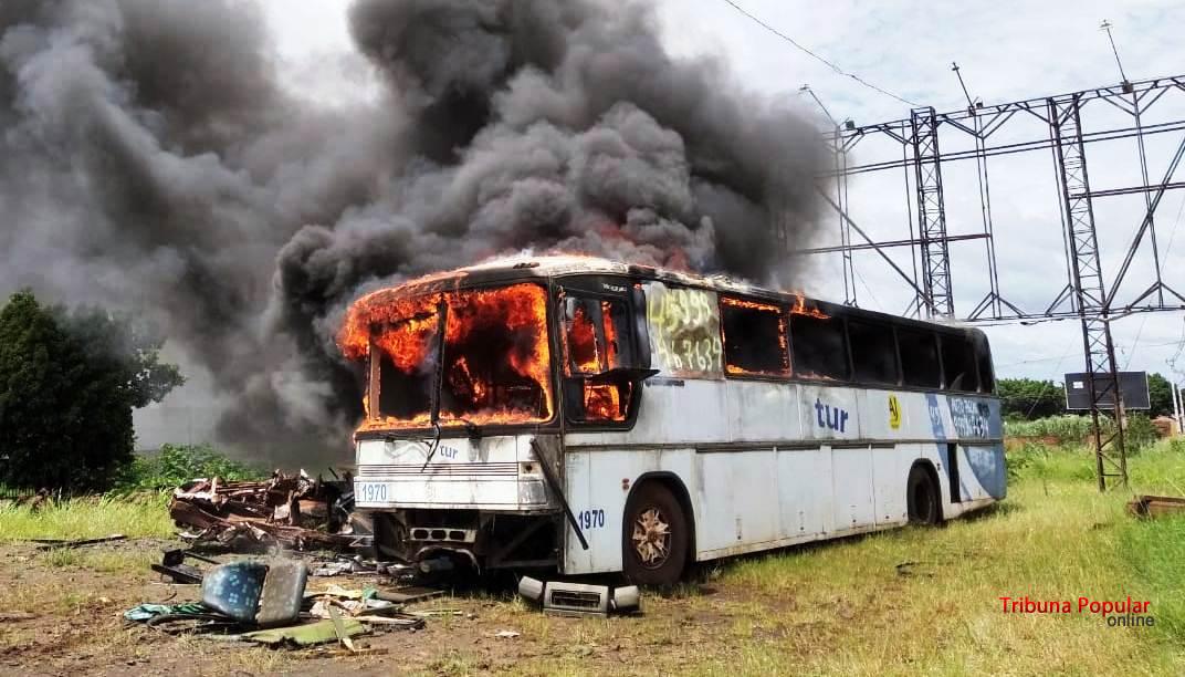
<instances>
[{"instance_id":1,"label":"heap of rusty burned scrap left of the bus front","mask_svg":"<svg viewBox=\"0 0 1185 677\"><path fill-rule=\"evenodd\" d=\"M173 491L169 516L191 548L233 553L345 550L354 532L350 478L325 481L276 472L263 481L196 479Z\"/></svg>"}]
</instances>

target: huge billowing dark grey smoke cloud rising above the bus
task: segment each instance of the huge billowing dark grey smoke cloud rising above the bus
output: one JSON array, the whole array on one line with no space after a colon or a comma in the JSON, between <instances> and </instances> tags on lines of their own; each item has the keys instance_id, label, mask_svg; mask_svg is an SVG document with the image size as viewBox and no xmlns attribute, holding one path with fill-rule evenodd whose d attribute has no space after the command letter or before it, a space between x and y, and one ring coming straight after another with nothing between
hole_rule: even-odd
<instances>
[{"instance_id":1,"label":"huge billowing dark grey smoke cloud rising above the bus","mask_svg":"<svg viewBox=\"0 0 1185 677\"><path fill-rule=\"evenodd\" d=\"M364 289L525 248L790 282L770 225L812 235L813 126L671 57L646 5L358 0L382 94L325 108L250 2L5 0L0 290L142 313L224 441L340 453Z\"/></svg>"}]
</instances>

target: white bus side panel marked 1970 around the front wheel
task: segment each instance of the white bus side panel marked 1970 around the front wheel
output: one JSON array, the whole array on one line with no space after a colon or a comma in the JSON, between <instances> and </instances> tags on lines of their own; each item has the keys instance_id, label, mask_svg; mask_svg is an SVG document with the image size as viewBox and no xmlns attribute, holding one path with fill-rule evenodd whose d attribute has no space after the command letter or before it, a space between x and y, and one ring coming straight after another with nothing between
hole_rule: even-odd
<instances>
[{"instance_id":1,"label":"white bus side panel marked 1970 around the front wheel","mask_svg":"<svg viewBox=\"0 0 1185 677\"><path fill-rule=\"evenodd\" d=\"M621 570L626 498L634 480L645 473L670 473L680 478L686 485L694 513L687 517L699 523L693 449L613 451L603 447L569 447L564 462L568 504L589 543L588 550L581 548L571 525L566 525L568 532L563 539L563 573L566 575Z\"/></svg>"}]
</instances>

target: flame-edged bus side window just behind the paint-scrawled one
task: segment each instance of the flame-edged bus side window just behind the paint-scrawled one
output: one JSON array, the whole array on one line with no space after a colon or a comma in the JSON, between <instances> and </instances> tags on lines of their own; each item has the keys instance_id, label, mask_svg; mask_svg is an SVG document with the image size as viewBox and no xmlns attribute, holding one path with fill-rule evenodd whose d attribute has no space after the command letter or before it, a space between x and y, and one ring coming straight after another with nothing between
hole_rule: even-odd
<instances>
[{"instance_id":1,"label":"flame-edged bus side window just behind the paint-scrawled one","mask_svg":"<svg viewBox=\"0 0 1185 677\"><path fill-rule=\"evenodd\" d=\"M771 304L720 296L724 370L730 376L789 376L786 315Z\"/></svg>"}]
</instances>

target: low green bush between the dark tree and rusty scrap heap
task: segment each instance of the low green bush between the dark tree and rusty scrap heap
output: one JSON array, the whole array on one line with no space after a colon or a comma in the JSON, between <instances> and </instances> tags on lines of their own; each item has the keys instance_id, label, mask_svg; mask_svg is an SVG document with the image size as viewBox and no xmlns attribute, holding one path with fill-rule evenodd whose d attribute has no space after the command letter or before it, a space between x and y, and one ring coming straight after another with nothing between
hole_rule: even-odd
<instances>
[{"instance_id":1,"label":"low green bush between the dark tree and rusty scrap heap","mask_svg":"<svg viewBox=\"0 0 1185 677\"><path fill-rule=\"evenodd\" d=\"M191 479L218 477L225 480L260 479L267 473L226 458L210 445L165 445L155 456L137 456L120 478L120 492L159 491Z\"/></svg>"}]
</instances>

